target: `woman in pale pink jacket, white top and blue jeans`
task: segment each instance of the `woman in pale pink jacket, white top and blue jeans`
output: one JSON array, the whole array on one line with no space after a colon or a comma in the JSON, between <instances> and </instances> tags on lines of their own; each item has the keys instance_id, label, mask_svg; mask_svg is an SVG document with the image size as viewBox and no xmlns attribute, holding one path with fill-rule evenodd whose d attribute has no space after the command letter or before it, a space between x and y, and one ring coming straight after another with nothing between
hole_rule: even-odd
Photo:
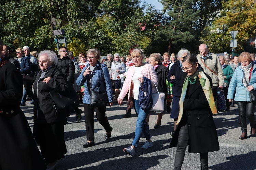
<instances>
[{"instance_id":1,"label":"woman in pale pink jacket, white top and blue jeans","mask_svg":"<svg viewBox=\"0 0 256 170\"><path fill-rule=\"evenodd\" d=\"M129 67L127 76L122 88L122 91L118 97L118 104L121 105L123 103L123 99L125 95L128 93L128 101L127 101L127 110L134 106L135 112L138 114L135 135L132 141L132 145L128 148L125 148L124 151L131 156L135 153L135 148L140 140L142 132L145 135L146 142L141 147L142 149L147 149L153 146L151 141L149 126L146 122L146 118L150 111L143 111L139 105L138 95L139 95L139 87L143 82L143 77L146 77L151 80L152 83L152 92L156 92L154 82L157 84L158 80L156 77L155 69L150 64L144 64L142 61L144 59L144 53L140 49L134 49L131 53L131 58L135 65Z\"/></svg>"}]
</instances>

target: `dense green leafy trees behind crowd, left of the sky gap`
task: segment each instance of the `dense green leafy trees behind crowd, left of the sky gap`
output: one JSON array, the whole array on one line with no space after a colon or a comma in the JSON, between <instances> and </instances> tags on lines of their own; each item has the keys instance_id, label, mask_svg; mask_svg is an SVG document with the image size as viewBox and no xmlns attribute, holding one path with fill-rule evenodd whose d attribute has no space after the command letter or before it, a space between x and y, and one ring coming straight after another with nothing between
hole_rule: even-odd
<instances>
[{"instance_id":1,"label":"dense green leafy trees behind crowd, left of the sky gap","mask_svg":"<svg viewBox=\"0 0 256 170\"><path fill-rule=\"evenodd\" d=\"M148 51L161 15L139 0L12 0L1 1L0 37L5 44L31 50L56 50L53 30L65 29L75 55L89 48L102 54L127 55L132 47ZM146 28L142 30L142 27Z\"/></svg>"}]
</instances>

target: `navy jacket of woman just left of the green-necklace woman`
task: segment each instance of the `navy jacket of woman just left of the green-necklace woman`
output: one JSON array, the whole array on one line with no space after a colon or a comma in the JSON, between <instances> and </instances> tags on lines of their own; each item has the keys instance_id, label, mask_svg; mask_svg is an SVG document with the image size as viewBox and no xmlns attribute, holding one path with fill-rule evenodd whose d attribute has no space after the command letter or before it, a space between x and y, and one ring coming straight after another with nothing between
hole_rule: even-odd
<instances>
[{"instance_id":1,"label":"navy jacket of woman just left of the green-necklace woman","mask_svg":"<svg viewBox=\"0 0 256 170\"><path fill-rule=\"evenodd\" d=\"M182 90L182 84L181 84L181 73L182 69L180 66L180 61L174 62L172 65L169 74L167 75L167 80L172 84L172 95L176 97L181 97L181 90ZM170 80L171 75L175 76L175 79Z\"/></svg>"}]
</instances>

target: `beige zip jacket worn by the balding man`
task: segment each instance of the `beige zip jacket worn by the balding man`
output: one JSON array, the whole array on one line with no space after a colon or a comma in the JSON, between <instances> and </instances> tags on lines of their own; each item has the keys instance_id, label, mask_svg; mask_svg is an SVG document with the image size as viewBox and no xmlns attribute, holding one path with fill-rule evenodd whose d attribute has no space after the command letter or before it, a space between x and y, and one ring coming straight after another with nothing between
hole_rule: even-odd
<instances>
[{"instance_id":1,"label":"beige zip jacket worn by the balding man","mask_svg":"<svg viewBox=\"0 0 256 170\"><path fill-rule=\"evenodd\" d=\"M203 58L202 58L202 61L200 60L201 57L202 57L201 54L197 55L198 63L202 66L204 72L207 73L212 78L213 86L223 86L224 75L221 67L221 62L219 62L219 57L216 54L211 54L210 52L205 62ZM208 70L208 68L206 68L202 62L204 62L205 65L207 65L210 69L212 69L215 73L217 73L218 76L213 72L211 72L210 70Z\"/></svg>"}]
</instances>

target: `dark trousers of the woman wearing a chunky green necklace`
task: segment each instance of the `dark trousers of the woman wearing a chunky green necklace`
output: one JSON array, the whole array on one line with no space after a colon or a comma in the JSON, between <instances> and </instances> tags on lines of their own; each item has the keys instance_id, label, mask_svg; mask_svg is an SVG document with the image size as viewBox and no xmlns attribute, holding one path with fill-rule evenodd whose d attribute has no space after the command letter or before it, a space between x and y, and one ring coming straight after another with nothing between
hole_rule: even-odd
<instances>
[{"instance_id":1,"label":"dark trousers of the woman wearing a chunky green necklace","mask_svg":"<svg viewBox=\"0 0 256 170\"><path fill-rule=\"evenodd\" d=\"M174 170L180 170L185 157L185 151L188 145L187 124L181 127L177 149L175 154ZM208 170L208 152L200 153L201 170Z\"/></svg>"}]
</instances>

